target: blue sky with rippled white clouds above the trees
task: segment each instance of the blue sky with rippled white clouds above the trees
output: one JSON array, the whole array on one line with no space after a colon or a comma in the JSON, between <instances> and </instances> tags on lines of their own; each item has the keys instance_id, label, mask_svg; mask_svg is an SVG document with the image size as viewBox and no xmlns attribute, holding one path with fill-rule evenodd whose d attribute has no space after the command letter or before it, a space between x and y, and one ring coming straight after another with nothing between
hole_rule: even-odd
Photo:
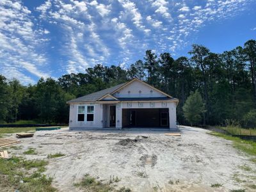
<instances>
[{"instance_id":1,"label":"blue sky with rippled white clouds above the trees","mask_svg":"<svg viewBox=\"0 0 256 192\"><path fill-rule=\"evenodd\" d=\"M34 84L95 64L127 68L152 49L189 56L256 39L256 0L1 0L0 74Z\"/></svg>"}]
</instances>

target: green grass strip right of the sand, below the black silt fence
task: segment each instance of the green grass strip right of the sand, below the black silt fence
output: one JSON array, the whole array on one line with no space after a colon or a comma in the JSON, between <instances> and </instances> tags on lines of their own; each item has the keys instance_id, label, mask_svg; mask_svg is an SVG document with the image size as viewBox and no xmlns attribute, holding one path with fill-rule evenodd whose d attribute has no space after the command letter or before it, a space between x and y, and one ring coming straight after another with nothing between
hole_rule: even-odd
<instances>
[{"instance_id":1,"label":"green grass strip right of the sand, below the black silt fence","mask_svg":"<svg viewBox=\"0 0 256 192\"><path fill-rule=\"evenodd\" d=\"M232 137L232 136L228 136L228 135L221 134L221 133L218 133L215 136L224 138L226 140L231 140L231 141L233 141L233 146L235 148L242 150L246 154L256 156L256 142L254 142L254 141L242 140L241 138Z\"/></svg>"}]
</instances>

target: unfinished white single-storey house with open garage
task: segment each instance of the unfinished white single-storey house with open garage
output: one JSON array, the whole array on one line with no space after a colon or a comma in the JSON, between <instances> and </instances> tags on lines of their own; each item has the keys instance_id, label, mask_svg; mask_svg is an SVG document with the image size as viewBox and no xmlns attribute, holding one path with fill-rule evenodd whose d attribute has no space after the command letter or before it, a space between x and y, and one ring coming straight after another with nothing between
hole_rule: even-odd
<instances>
[{"instance_id":1,"label":"unfinished white single-storey house with open garage","mask_svg":"<svg viewBox=\"0 0 256 192\"><path fill-rule=\"evenodd\" d=\"M177 129L178 102L178 99L135 78L127 83L69 100L69 129Z\"/></svg>"}]
</instances>

